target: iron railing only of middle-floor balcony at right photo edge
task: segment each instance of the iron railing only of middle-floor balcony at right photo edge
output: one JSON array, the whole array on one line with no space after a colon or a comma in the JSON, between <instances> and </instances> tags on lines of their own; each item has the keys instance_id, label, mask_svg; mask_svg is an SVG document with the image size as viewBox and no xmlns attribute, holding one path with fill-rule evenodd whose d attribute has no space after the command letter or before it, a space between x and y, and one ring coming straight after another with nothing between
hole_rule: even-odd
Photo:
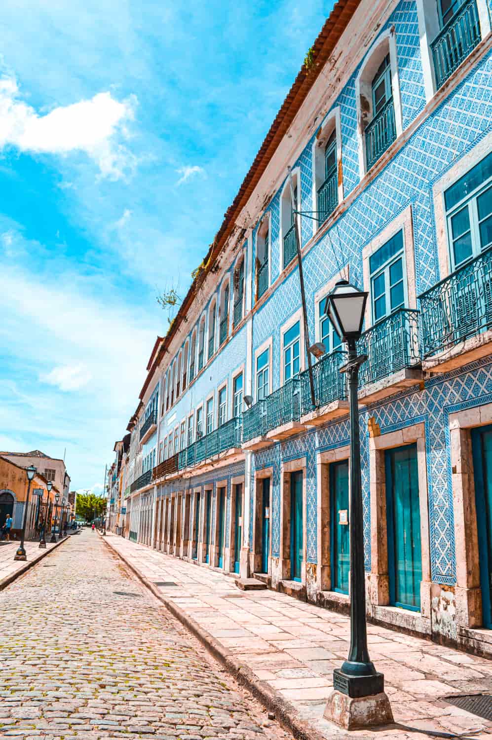
<instances>
[{"instance_id":1,"label":"iron railing only of middle-floor balcony at right photo edge","mask_svg":"<svg viewBox=\"0 0 492 740\"><path fill-rule=\"evenodd\" d=\"M492 327L492 247L422 293L424 357Z\"/></svg>"}]
</instances>

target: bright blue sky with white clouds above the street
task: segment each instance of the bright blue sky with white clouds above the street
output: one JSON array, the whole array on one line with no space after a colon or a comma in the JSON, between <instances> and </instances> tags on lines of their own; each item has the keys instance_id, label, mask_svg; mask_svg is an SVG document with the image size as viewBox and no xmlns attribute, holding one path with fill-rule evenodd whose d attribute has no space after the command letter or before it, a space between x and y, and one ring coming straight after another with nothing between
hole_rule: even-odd
<instances>
[{"instance_id":1,"label":"bright blue sky with white clouds above the street","mask_svg":"<svg viewBox=\"0 0 492 740\"><path fill-rule=\"evenodd\" d=\"M2 0L0 450L101 490L331 0Z\"/></svg>"}]
</instances>

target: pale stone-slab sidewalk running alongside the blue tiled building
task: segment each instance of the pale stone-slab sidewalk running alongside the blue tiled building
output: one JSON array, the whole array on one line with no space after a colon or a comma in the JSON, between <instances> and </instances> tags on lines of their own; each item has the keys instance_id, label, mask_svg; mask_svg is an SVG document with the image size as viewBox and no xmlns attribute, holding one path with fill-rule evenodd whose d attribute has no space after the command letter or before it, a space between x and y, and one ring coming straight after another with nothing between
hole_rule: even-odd
<instances>
[{"instance_id":1,"label":"pale stone-slab sidewalk running alongside the blue tiled building","mask_svg":"<svg viewBox=\"0 0 492 740\"><path fill-rule=\"evenodd\" d=\"M385 673L395 724L347 733L323 719L331 673L348 653L349 620L276 591L239 591L229 576L108 534L106 542L166 606L292 727L325 738L492 740L492 722L445 702L492 693L492 662L368 625L371 659ZM156 585L164 582L167 585ZM248 670L249 669L249 670Z\"/></svg>"}]
</instances>

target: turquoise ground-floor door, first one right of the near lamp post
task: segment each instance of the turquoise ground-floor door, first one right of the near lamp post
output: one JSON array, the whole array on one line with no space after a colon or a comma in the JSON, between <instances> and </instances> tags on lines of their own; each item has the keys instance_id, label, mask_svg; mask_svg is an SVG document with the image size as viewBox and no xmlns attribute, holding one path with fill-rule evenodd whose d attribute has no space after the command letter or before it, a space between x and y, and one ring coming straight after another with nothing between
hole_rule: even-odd
<instances>
[{"instance_id":1,"label":"turquoise ground-floor door, first one right of the near lamp post","mask_svg":"<svg viewBox=\"0 0 492 740\"><path fill-rule=\"evenodd\" d=\"M422 548L417 445L387 450L385 467L390 602L419 611Z\"/></svg>"}]
</instances>

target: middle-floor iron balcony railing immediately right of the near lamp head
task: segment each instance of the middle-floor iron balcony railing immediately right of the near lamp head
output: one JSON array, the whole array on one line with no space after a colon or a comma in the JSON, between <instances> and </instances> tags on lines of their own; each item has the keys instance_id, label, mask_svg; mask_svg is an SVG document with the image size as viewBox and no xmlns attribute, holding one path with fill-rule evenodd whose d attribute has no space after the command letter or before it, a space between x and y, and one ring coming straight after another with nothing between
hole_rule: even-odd
<instances>
[{"instance_id":1,"label":"middle-floor iron balcony railing immediately right of the near lamp head","mask_svg":"<svg viewBox=\"0 0 492 740\"><path fill-rule=\"evenodd\" d=\"M359 386L375 383L395 372L421 363L419 312L398 309L364 332L357 342L359 354L367 354L360 366Z\"/></svg>"}]
</instances>

